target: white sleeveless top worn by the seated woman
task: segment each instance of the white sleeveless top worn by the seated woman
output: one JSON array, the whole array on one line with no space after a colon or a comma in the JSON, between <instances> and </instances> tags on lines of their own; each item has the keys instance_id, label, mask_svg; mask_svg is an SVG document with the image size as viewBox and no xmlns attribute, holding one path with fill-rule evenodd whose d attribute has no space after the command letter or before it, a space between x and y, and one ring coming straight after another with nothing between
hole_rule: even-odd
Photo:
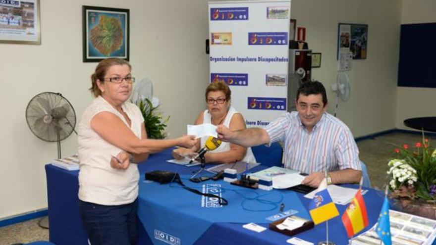
<instances>
[{"instance_id":1,"label":"white sleeveless top worn by the seated woman","mask_svg":"<svg viewBox=\"0 0 436 245\"><path fill-rule=\"evenodd\" d=\"M226 126L227 128L230 127L230 121L233 117L233 114L238 113L236 109L233 106L230 106L228 108L227 115L224 118L224 121L222 124ZM212 115L209 113L209 110L205 110L203 113L203 123L212 123ZM204 146L206 143L206 140L209 137L202 137L200 146ZM217 153L217 152L223 152L230 150L230 143L228 142L222 142L221 145L216 148L215 150L212 150L211 152ZM245 153L245 157L242 159L243 162L256 162L256 158L254 158L253 151L251 151L251 147L247 147L247 152Z\"/></svg>"}]
</instances>

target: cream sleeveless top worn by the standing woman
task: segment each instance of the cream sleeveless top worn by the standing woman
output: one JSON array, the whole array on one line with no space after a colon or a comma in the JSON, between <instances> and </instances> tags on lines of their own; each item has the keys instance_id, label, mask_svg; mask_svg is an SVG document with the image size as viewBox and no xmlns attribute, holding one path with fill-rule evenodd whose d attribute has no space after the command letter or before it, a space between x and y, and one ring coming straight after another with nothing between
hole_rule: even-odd
<instances>
[{"instance_id":1,"label":"cream sleeveless top worn by the standing woman","mask_svg":"<svg viewBox=\"0 0 436 245\"><path fill-rule=\"evenodd\" d=\"M105 141L91 128L91 120L97 113L109 111L141 138L141 124L144 122L141 111L130 102L121 107L131 120L131 127L123 115L101 96L95 98L82 115L78 128L79 199L82 201L121 205L133 202L138 196L138 166L130 164L125 170L110 167L110 155L116 156L122 149Z\"/></svg>"}]
</instances>

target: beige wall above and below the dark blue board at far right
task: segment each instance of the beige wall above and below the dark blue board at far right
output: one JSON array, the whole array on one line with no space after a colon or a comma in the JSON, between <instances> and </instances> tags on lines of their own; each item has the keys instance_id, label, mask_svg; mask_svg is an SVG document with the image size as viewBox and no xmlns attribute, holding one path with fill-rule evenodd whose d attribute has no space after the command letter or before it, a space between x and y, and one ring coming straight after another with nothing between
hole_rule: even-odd
<instances>
[{"instance_id":1,"label":"beige wall above and below the dark blue board at far right","mask_svg":"<svg viewBox=\"0 0 436 245\"><path fill-rule=\"evenodd\" d=\"M401 24L436 22L435 11L434 0L402 0ZM435 88L398 87L397 95L397 128L411 130L404 126L403 121L407 118L435 116Z\"/></svg>"}]
</instances>

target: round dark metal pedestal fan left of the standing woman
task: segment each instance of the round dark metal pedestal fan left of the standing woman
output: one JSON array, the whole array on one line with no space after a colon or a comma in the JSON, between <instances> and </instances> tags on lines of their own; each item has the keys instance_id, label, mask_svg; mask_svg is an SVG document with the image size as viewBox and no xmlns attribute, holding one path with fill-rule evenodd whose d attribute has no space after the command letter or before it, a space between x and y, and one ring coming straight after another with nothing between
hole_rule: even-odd
<instances>
[{"instance_id":1,"label":"round dark metal pedestal fan left of the standing woman","mask_svg":"<svg viewBox=\"0 0 436 245\"><path fill-rule=\"evenodd\" d=\"M26 121L36 137L57 142L57 158L61 158L60 142L74 131L76 112L60 93L44 92L33 97L26 108Z\"/></svg>"}]
</instances>

